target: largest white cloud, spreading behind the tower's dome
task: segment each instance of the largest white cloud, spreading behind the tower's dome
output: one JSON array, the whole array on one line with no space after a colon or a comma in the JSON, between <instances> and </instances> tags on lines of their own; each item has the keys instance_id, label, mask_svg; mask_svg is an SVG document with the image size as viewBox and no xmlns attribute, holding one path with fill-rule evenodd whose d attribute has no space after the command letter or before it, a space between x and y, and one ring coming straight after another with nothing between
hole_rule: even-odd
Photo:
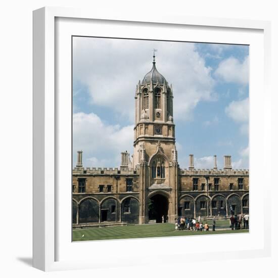
<instances>
[{"instance_id":1,"label":"largest white cloud, spreading behind the tower's dome","mask_svg":"<svg viewBox=\"0 0 278 278\"><path fill-rule=\"evenodd\" d=\"M215 100L211 68L194 43L75 37L73 76L88 87L91 103L133 121L135 87L152 68L154 48L158 71L173 83L175 120L189 120L200 101Z\"/></svg>"}]
</instances>

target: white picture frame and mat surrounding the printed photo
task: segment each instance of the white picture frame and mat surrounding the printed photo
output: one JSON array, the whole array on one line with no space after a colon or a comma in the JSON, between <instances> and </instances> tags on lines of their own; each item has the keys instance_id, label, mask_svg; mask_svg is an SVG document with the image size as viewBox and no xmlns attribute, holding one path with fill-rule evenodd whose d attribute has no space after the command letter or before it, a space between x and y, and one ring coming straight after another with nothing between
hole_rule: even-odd
<instances>
[{"instance_id":1,"label":"white picture frame and mat surrounding the printed photo","mask_svg":"<svg viewBox=\"0 0 278 278\"><path fill-rule=\"evenodd\" d=\"M80 20L81 25L76 26L75 29L77 24L73 21L77 19ZM91 23L96 24L94 28L90 26L87 28L86 25ZM71 158L68 160L71 157L71 152L70 154L67 153L67 148L69 145L71 146L71 133L69 133L71 132L71 128L69 129L71 117L68 114L71 111L71 109L68 110L71 108L71 79L69 79L71 67L69 68L68 65L71 63L67 61L71 45L68 45L68 39L70 35L86 35L86 32L109 36L111 28L108 30L109 28L105 26L111 27L110 25L113 24L115 26L114 33L122 32L122 36L128 38L137 37L142 28L144 30L146 28L171 28L177 32L178 30L188 32L190 36L188 41L202 40L225 43L238 41L239 43L250 44L250 210L253 215L261 216L264 223L269 222L271 217L270 213L266 213L270 211L270 202L268 201L270 200L270 188L264 188L262 208L258 210L256 206L252 207L252 202L254 204L260 196L256 184L271 183L270 176L266 173L263 172L261 176L257 176L259 167L269 167L266 161L271 160L270 147L267 144L267 136L270 134L271 104L269 22L192 16L178 17L161 14L152 15L152 17L136 14L110 17L82 9L42 8L33 12L33 266L44 271L105 267L106 263L103 263L99 258L107 248L117 250L118 258L117 260L110 260L109 266L143 265L150 261L150 257L143 256L144 248L150 245L156 250L156 256L152 263L165 263L162 258L166 253L171 254L167 258L168 263L182 262L184 259L204 261L213 259L215 256L218 259L219 257L229 259L233 258L235 254L237 258L269 256L270 229L267 229L266 225L262 230L252 229L252 216L250 233L248 235L233 235L237 237L236 240L246 242L246 245L241 247L234 245L225 251L223 244L228 240L227 235L219 235L217 238L216 236L206 236L205 240L209 239L210 243L208 243L205 258L192 256L192 252L186 250L172 248L180 241L196 244L196 239L192 237L188 237L192 243L189 243L189 239L184 239L184 237L179 237L179 239L173 237L171 239L82 243L69 241L71 230L68 228L69 224L71 225L71 217L68 216L71 215L71 207L68 198L71 197L71 183L68 184L68 189L61 186L62 179L65 180L64 184L68 183L67 181L70 180L68 173L71 173L71 168L69 168L71 167ZM122 24L126 24L124 30ZM130 26L132 28L128 28ZM134 32L134 29L137 33ZM219 36L217 32L223 35ZM163 33L170 37L170 33ZM146 36L145 38L152 38L149 34ZM199 37L194 39L194 36ZM249 43L250 41L251 43ZM61 55L63 57L58 57L57 53L61 54L59 47L62 44L65 45L65 51ZM258 56L252 56L252 52ZM254 67L254 65L258 65L258 67ZM60 71L59 76L56 76L57 70L62 68L63 72ZM66 84L67 82L68 84ZM57 94L57 91L60 93ZM259 97L258 91L262 91L263 96ZM65 100L63 104L65 108L61 108L61 100ZM261 103L263 103L260 106L262 113L258 115L255 108ZM65 123L64 126L61 123ZM257 134L258 127L263 130L260 132L261 134ZM256 139L252 139L252 134L256 134L253 136ZM66 142L65 146L62 146L61 142ZM61 195L62 192L63 196ZM71 202L71 198L69 201ZM68 216L66 219L62 219L61 215L65 215L65 213L68 213ZM204 237L200 237L199 241L204 241ZM118 249L120 245L133 246L136 252L129 254L125 261L120 260L123 256ZM167 252L161 248L165 245ZM214 251L212 251L211 246L214 246ZM90 257L86 259L88 257L86 250L92 250L92 248L94 248L94 253L90 251ZM85 252L84 256L77 260L74 254L82 254L83 251ZM91 256L94 257L93 260Z\"/></svg>"}]
</instances>

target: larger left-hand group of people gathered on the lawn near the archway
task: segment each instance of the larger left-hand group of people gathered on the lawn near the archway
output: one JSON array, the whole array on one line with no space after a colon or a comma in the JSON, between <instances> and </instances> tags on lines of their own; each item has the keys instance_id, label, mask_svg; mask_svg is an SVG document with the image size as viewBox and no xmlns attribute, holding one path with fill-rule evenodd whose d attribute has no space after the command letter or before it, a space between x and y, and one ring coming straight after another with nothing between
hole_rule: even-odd
<instances>
[{"instance_id":1,"label":"larger left-hand group of people gathered on the lawn near the archway","mask_svg":"<svg viewBox=\"0 0 278 278\"><path fill-rule=\"evenodd\" d=\"M215 217L212 219L212 230L215 230ZM198 221L195 218L191 217L184 217L180 216L175 219L175 230L199 230L203 231L209 230L208 222L205 222L203 225L203 222L201 221L201 216L198 217Z\"/></svg>"}]
</instances>

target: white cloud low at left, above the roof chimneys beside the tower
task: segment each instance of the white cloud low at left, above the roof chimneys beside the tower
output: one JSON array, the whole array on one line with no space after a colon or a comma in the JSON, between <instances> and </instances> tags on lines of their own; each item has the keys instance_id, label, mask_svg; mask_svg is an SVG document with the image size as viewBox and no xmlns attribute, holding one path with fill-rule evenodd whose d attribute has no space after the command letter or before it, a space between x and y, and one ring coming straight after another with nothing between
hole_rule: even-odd
<instances>
[{"instance_id":1,"label":"white cloud low at left, above the roof chimneys beside the tower","mask_svg":"<svg viewBox=\"0 0 278 278\"><path fill-rule=\"evenodd\" d=\"M83 151L86 167L118 167L120 152L132 153L133 125L106 125L96 114L73 114L73 165Z\"/></svg>"}]
</instances>

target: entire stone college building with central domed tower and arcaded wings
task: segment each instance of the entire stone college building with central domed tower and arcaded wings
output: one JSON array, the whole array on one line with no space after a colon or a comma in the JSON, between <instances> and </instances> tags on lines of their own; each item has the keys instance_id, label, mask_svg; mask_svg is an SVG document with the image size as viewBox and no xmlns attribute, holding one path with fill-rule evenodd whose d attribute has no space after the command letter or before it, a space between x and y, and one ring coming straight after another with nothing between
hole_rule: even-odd
<instances>
[{"instance_id":1,"label":"entire stone college building with central domed tower and arcaded wings","mask_svg":"<svg viewBox=\"0 0 278 278\"><path fill-rule=\"evenodd\" d=\"M249 212L249 170L178 165L173 122L173 89L152 70L135 92L134 154L121 153L120 168L84 168L82 151L72 172L73 226L174 222L180 215L224 217Z\"/></svg>"}]
</instances>

